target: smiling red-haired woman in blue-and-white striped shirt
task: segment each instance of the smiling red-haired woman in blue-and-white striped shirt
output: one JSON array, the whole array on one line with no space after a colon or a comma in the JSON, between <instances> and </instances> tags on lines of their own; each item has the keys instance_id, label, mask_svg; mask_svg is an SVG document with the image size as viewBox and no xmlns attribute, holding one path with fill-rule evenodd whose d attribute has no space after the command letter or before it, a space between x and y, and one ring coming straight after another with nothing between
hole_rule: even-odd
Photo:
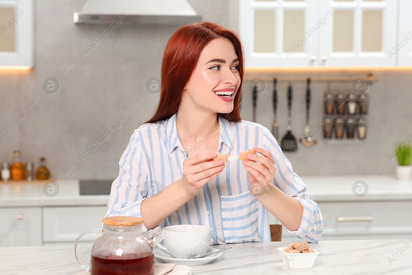
<instances>
[{"instance_id":1,"label":"smiling red-haired woman in blue-and-white striped shirt","mask_svg":"<svg viewBox=\"0 0 412 275\"><path fill-rule=\"evenodd\" d=\"M211 244L223 244L269 242L269 211L293 235L318 242L322 216L302 179L267 128L240 118L236 33L211 22L180 27L164 50L161 78L155 115L119 161L106 216L142 217L145 231L205 225ZM213 160L252 148L248 160Z\"/></svg>"}]
</instances>

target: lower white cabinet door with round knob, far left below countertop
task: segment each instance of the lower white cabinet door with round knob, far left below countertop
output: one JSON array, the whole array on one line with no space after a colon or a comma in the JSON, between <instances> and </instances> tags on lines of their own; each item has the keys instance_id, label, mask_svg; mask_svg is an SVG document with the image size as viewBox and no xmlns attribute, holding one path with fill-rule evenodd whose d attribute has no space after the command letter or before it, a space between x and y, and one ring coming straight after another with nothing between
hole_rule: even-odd
<instances>
[{"instance_id":1,"label":"lower white cabinet door with round knob, far left below countertop","mask_svg":"<svg viewBox=\"0 0 412 275\"><path fill-rule=\"evenodd\" d=\"M0 247L41 246L41 209L1 208Z\"/></svg>"}]
</instances>

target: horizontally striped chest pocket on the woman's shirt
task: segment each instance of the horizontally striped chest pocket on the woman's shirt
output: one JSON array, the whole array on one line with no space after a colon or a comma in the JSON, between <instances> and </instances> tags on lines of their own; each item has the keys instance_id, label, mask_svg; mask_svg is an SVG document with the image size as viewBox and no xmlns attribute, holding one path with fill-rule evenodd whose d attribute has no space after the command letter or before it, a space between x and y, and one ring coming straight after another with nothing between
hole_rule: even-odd
<instances>
[{"instance_id":1,"label":"horizontally striped chest pocket on the woman's shirt","mask_svg":"<svg viewBox=\"0 0 412 275\"><path fill-rule=\"evenodd\" d=\"M222 230L226 243L256 239L258 234L258 199L246 191L239 195L220 196Z\"/></svg>"}]
</instances>

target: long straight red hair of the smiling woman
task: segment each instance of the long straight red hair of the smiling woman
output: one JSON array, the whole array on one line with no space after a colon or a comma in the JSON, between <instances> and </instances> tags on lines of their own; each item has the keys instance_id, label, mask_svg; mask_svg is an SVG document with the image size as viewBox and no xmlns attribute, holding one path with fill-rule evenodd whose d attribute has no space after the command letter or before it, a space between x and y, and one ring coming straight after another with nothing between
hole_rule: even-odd
<instances>
[{"instance_id":1,"label":"long straight red hair of the smiling woman","mask_svg":"<svg viewBox=\"0 0 412 275\"><path fill-rule=\"evenodd\" d=\"M159 103L153 117L145 123L165 120L177 112L183 88L192 76L202 50L216 38L229 39L239 58L240 85L234 97L234 108L231 113L221 115L229 121L238 122L241 120L239 101L244 71L241 40L234 31L204 21L181 26L169 38L163 53Z\"/></svg>"}]
</instances>

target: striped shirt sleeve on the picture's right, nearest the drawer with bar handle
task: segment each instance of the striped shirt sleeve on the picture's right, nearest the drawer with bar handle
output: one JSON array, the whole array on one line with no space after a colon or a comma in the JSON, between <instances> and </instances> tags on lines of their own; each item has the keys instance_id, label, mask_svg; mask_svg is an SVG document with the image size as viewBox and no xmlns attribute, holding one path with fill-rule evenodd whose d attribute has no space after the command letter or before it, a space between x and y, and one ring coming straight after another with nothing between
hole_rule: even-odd
<instances>
[{"instance_id":1,"label":"striped shirt sleeve on the picture's right, nearest the drawer with bar handle","mask_svg":"<svg viewBox=\"0 0 412 275\"><path fill-rule=\"evenodd\" d=\"M323 218L321 210L312 197L305 193L307 186L303 183L300 176L293 172L292 165L288 158L283 154L276 139L265 128L266 138L264 148L272 153L276 162L277 171L272 183L286 194L294 197L303 206L303 215L300 226L297 230L289 233L307 242L318 242L323 232Z\"/></svg>"}]
</instances>

